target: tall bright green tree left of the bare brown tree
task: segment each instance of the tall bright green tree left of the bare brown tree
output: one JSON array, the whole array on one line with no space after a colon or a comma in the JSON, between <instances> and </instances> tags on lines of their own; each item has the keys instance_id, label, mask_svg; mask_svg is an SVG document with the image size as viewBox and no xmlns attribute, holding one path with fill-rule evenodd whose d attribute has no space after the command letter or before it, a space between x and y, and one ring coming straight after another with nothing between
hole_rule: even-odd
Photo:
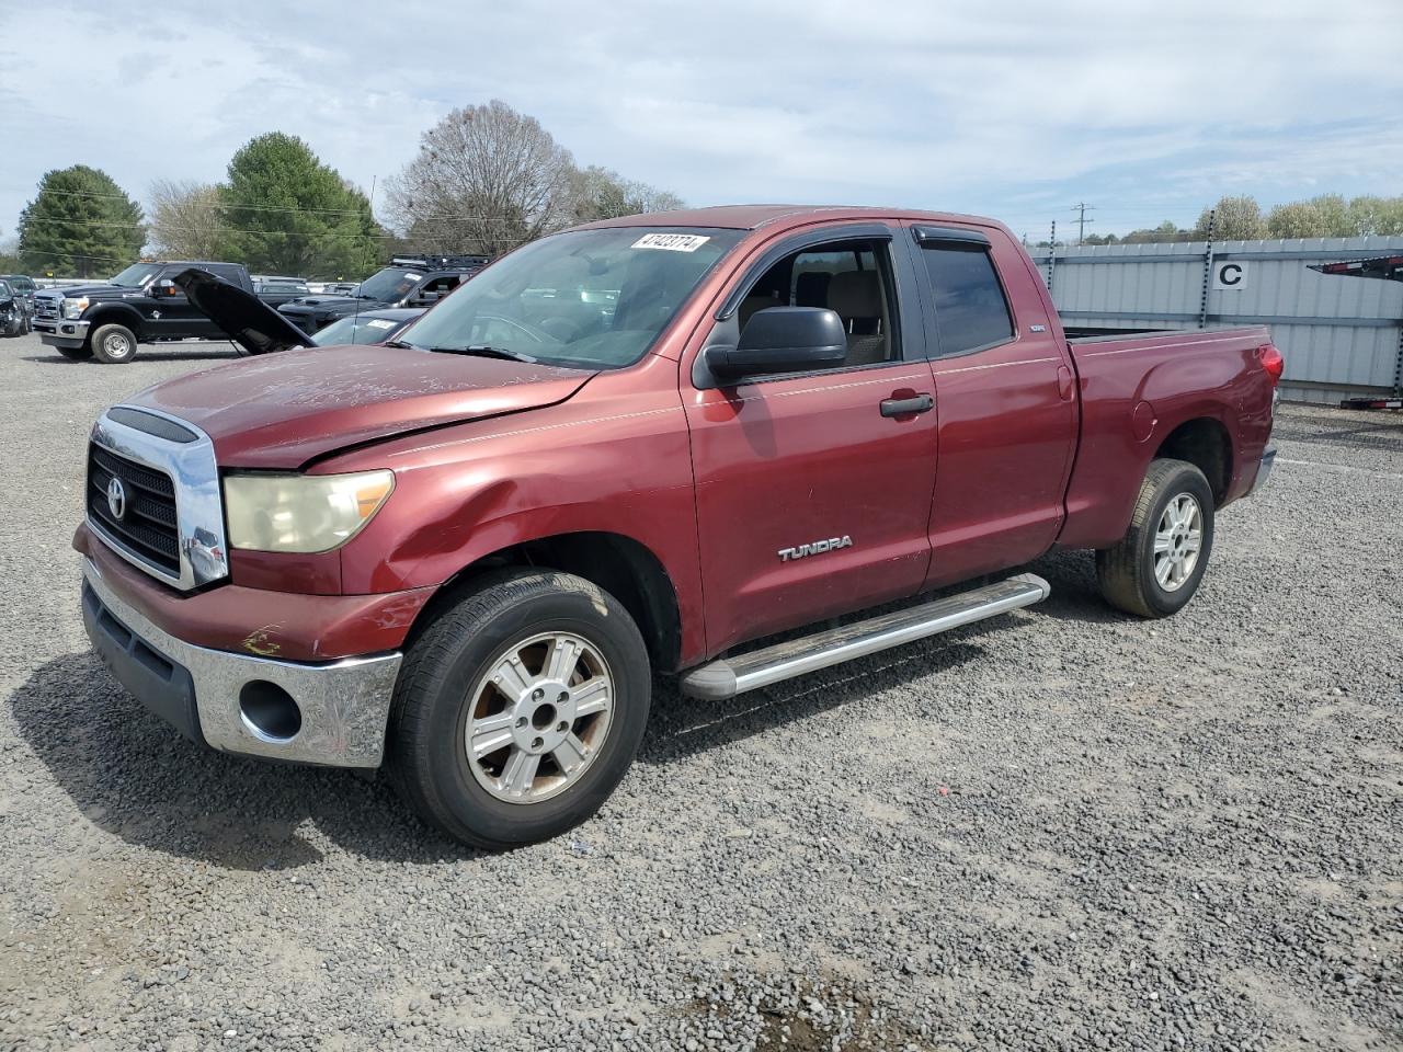
<instances>
[{"instance_id":1,"label":"tall bright green tree left of the bare brown tree","mask_svg":"<svg viewBox=\"0 0 1403 1052\"><path fill-rule=\"evenodd\" d=\"M365 194L296 136L250 139L219 198L229 252L251 271L351 279L382 262L384 231Z\"/></svg>"}]
</instances>

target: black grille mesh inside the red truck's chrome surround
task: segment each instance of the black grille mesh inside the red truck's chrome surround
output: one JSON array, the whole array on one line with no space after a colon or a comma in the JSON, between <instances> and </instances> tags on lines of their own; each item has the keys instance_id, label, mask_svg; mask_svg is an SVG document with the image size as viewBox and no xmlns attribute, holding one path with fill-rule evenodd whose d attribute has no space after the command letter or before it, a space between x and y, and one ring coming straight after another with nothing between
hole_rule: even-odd
<instances>
[{"instance_id":1,"label":"black grille mesh inside the red truck's chrome surround","mask_svg":"<svg viewBox=\"0 0 1403 1052\"><path fill-rule=\"evenodd\" d=\"M126 491L121 519L112 513L107 497L114 476ZM87 511L88 519L129 553L180 576L175 485L168 474L90 443Z\"/></svg>"}]
</instances>

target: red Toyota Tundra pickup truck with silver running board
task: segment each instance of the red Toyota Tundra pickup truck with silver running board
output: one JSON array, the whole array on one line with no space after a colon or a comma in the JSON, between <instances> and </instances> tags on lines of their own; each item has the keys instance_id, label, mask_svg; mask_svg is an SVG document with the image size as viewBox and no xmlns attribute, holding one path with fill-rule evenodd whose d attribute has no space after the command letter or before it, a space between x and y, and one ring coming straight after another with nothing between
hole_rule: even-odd
<instances>
[{"instance_id":1,"label":"red Toyota Tundra pickup truck with silver running board","mask_svg":"<svg viewBox=\"0 0 1403 1052\"><path fill-rule=\"evenodd\" d=\"M250 351L295 342L188 288ZM991 220L592 223L387 344L107 410L84 620L196 742L384 766L449 835L526 843L610 794L655 673L704 703L1027 606L1047 584L998 575L1056 547L1174 613L1268 474L1281 367L1256 327L1063 330Z\"/></svg>"}]
</instances>

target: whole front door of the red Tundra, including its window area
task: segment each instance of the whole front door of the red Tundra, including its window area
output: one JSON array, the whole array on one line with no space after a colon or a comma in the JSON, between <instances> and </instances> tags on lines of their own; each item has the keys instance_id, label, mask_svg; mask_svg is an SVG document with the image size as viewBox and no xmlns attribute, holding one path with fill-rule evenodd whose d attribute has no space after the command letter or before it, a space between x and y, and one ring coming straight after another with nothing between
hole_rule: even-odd
<instances>
[{"instance_id":1,"label":"whole front door of the red Tundra, including its window area","mask_svg":"<svg viewBox=\"0 0 1403 1052\"><path fill-rule=\"evenodd\" d=\"M840 369L720 389L683 380L711 654L925 581L939 410L898 233L833 223L758 245L721 293L723 320L683 358L687 377L700 344L734 345L746 307L826 307L849 332ZM875 288L853 271L877 271Z\"/></svg>"}]
</instances>

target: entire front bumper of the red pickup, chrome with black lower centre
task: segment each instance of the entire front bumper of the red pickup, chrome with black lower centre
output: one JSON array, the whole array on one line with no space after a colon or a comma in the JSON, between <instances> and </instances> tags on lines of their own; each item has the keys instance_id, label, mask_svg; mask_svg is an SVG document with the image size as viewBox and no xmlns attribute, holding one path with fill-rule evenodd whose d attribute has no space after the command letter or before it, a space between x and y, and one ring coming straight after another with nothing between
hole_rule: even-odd
<instances>
[{"instance_id":1,"label":"entire front bumper of the red pickup, chrome with black lower centre","mask_svg":"<svg viewBox=\"0 0 1403 1052\"><path fill-rule=\"evenodd\" d=\"M196 742L296 763L380 766L400 654L303 663L196 647L122 602L91 558L83 560L83 621L118 682ZM279 707L286 715L289 701L295 729L268 718Z\"/></svg>"}]
</instances>

